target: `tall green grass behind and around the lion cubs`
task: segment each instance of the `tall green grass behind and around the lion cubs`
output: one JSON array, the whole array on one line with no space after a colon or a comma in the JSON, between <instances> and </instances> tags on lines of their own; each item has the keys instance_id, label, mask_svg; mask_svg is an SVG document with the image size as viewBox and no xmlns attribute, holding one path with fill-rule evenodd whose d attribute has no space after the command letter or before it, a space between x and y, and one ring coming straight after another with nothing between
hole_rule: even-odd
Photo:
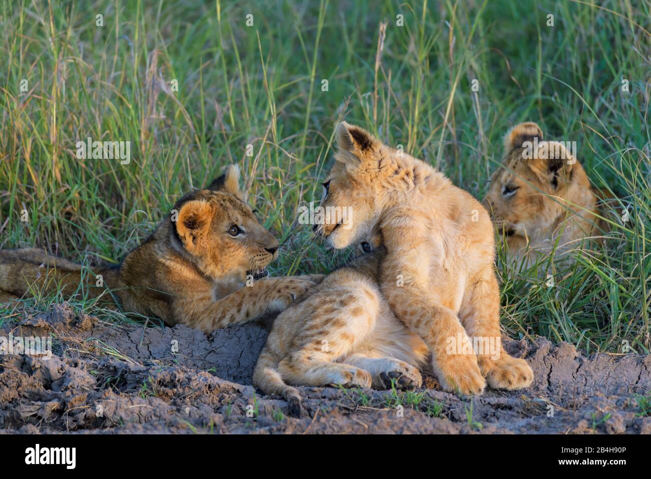
<instances>
[{"instance_id":1,"label":"tall green grass behind and around the lion cubs","mask_svg":"<svg viewBox=\"0 0 651 479\"><path fill-rule=\"evenodd\" d=\"M182 192L237 162L249 203L287 238L275 272L324 271L340 258L296 225L297 209L320 198L339 119L478 198L505 132L531 120L546 138L577 141L590 178L615 190L631 222L574 265L543 265L553 287L500 261L506 331L648 353L651 3L591 3L1 0L0 247L118 261ZM78 160L88 136L131 141L132 162Z\"/></svg>"}]
</instances>

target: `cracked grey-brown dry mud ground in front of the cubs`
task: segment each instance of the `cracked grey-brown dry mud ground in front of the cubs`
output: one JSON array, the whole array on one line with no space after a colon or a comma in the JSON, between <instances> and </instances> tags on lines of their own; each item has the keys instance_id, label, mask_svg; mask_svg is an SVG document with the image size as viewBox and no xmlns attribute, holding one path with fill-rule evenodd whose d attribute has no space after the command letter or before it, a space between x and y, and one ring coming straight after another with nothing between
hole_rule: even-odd
<instances>
[{"instance_id":1,"label":"cracked grey-brown dry mud ground in front of the cubs","mask_svg":"<svg viewBox=\"0 0 651 479\"><path fill-rule=\"evenodd\" d=\"M402 408L388 391L300 388L309 415L292 418L285 401L251 386L267 334L256 324L206 338L184 326L107 325L61 304L0 335L10 331L53 336L54 354L0 356L5 433L651 433L635 401L649 392L651 356L505 341L533 368L531 388L487 390L471 403L425 371L430 389L402 394Z\"/></svg>"}]
</instances>

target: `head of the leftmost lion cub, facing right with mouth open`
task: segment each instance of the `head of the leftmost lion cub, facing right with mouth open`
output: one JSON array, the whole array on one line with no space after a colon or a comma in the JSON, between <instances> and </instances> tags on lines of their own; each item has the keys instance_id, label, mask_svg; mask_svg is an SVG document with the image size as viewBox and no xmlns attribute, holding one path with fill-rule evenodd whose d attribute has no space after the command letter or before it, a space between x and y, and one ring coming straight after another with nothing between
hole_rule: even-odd
<instances>
[{"instance_id":1,"label":"head of the leftmost lion cub, facing right with mouth open","mask_svg":"<svg viewBox=\"0 0 651 479\"><path fill-rule=\"evenodd\" d=\"M278 241L242 201L239 178L240 169L230 166L210 186L186 194L174 206L173 246L213 280L262 278L278 255Z\"/></svg>"}]
</instances>

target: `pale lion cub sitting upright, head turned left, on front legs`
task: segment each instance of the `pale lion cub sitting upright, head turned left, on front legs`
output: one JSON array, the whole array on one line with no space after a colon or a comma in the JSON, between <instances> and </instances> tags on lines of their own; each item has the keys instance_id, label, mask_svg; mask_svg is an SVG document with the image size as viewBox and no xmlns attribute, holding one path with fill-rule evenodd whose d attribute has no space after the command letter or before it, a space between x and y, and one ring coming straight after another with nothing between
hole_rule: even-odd
<instances>
[{"instance_id":1,"label":"pale lion cub sitting upright, head turned left, on front legs","mask_svg":"<svg viewBox=\"0 0 651 479\"><path fill-rule=\"evenodd\" d=\"M504 389L531 385L527 362L501 346L497 358L448 349L457 337L493 338L499 345L495 244L486 209L443 173L362 128L339 124L337 143L321 203L330 213L320 231L331 246L344 248L380 227L387 248L381 292L430 349L439 383L461 394L480 394L486 382Z\"/></svg>"}]
</instances>

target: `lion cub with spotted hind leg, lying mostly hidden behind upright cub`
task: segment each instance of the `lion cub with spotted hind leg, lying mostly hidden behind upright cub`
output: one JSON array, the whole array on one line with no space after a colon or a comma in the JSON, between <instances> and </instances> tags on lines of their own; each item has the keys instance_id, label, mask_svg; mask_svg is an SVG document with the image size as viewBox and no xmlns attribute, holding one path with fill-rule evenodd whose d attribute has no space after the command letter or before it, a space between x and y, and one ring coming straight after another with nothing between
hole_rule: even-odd
<instances>
[{"instance_id":1,"label":"lion cub with spotted hind leg, lying mostly hidden behind upright cub","mask_svg":"<svg viewBox=\"0 0 651 479\"><path fill-rule=\"evenodd\" d=\"M381 234L359 242L350 265L327 275L305 300L274 321L253 373L253 385L283 396L290 412L301 409L296 388L288 386L420 386L414 365L428 349L395 317L378 287L385 255Z\"/></svg>"}]
</instances>

